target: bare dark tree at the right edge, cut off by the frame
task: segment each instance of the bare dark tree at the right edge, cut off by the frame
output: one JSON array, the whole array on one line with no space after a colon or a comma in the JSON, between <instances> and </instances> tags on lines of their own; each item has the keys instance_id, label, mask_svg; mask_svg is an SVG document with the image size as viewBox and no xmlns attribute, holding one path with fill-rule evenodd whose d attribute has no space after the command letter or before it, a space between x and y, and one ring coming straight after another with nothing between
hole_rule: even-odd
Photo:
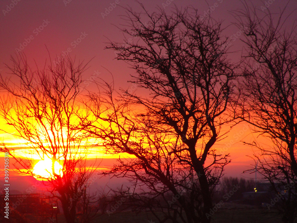
<instances>
[{"instance_id":1,"label":"bare dark tree at the right edge, cut off by the frame","mask_svg":"<svg viewBox=\"0 0 297 223\"><path fill-rule=\"evenodd\" d=\"M293 222L297 214L297 45L296 23L288 28L284 14L285 10L277 17L245 4L236 18L245 27L243 42L247 46L246 77L240 83L241 118L272 146L247 143L260 150L257 171L276 193L285 193L279 205L283 222Z\"/></svg>"}]
</instances>

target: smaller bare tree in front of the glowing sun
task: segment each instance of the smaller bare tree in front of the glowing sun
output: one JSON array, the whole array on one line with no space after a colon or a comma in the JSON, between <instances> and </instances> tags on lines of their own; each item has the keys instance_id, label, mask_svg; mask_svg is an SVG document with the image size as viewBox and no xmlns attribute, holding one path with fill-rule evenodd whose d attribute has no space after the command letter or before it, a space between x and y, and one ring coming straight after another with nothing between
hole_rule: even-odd
<instances>
[{"instance_id":1,"label":"smaller bare tree in front of the glowing sun","mask_svg":"<svg viewBox=\"0 0 297 223\"><path fill-rule=\"evenodd\" d=\"M32 70L24 55L11 60L13 65L7 65L11 76L0 77L0 89L5 92L0 98L0 115L14 131L2 131L26 142L27 158L5 145L1 150L12 156L18 173L46 182L51 197L60 200L67 222L89 222L78 215L78 206L85 210L94 199L86 194L86 187L96 168L87 167L87 146L75 130L81 73L86 65L75 66L74 60L64 58L57 66ZM51 160L50 176L33 171L32 154L40 160ZM57 162L61 170L55 167Z\"/></svg>"}]
</instances>

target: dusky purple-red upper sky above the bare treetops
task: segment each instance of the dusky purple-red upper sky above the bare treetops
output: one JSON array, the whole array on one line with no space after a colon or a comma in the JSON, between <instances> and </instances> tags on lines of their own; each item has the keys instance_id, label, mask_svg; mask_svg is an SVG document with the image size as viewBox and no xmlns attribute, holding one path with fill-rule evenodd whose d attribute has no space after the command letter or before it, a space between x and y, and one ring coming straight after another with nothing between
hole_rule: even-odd
<instances>
[{"instance_id":1,"label":"dusky purple-red upper sky above the bare treetops","mask_svg":"<svg viewBox=\"0 0 297 223\"><path fill-rule=\"evenodd\" d=\"M15 3L13 3L15 2ZM228 11L242 8L241 1L238 0L208 0L208 1L177 1L177 0L161 0L161 1L140 1L151 12L157 7L165 7L165 11L170 13L174 4L177 7L185 7L192 5L197 8L201 14L211 9L211 15L215 19L223 21L223 25L228 28L225 35L230 37L236 34L238 29L231 25L234 18ZM252 2L257 8L265 7L265 1L248 1ZM275 11L283 8L286 1L270 0L272 2L268 9ZM17 4L16 4L17 3ZM118 3L118 5L116 4ZM171 3L168 5L167 4ZM10 9L7 5L14 6ZM116 5L115 8L112 7ZM129 73L134 71L127 68L127 64L123 61L114 60L115 54L112 50L104 50L108 39L122 42L123 35L115 26L123 24L120 15L124 15L126 6L132 7L134 10L139 9L139 5L134 0L118 0L118 1L78 1L78 0L3 0L0 4L2 11L0 17L0 69L4 69L3 63L10 63L10 55L15 55L17 49L21 48L23 42L30 41L22 50L29 59L35 59L37 64L44 64L48 59L47 46L50 56L55 58L56 55L63 54L67 48L71 49L70 55L76 56L80 60L89 61L95 57L90 68L84 74L89 78L95 71L100 72L102 78L109 79L108 72L103 68L110 70L115 77L116 86L122 86L129 79ZM217 6L217 7L216 7ZM112 11L108 15L105 14L106 9L112 7ZM291 1L289 10L296 8L296 1ZM263 9L263 8L262 8ZM10 10L10 11L9 11ZM288 11L289 11L288 10ZM4 15L5 14L5 15ZM104 16L104 18L102 18ZM297 12L291 16L291 20L297 18ZM44 22L47 21L47 22ZM41 26L41 27L40 27ZM39 29L40 27L40 29ZM42 29L42 30L41 30ZM74 41L81 37L80 43ZM30 40L30 36L32 40ZM239 37L240 38L240 37ZM239 38L232 45L240 45ZM80 41L80 40L78 40ZM238 47L234 47L234 50ZM103 67L102 67L103 66ZM126 87L129 87L126 84Z\"/></svg>"}]
</instances>

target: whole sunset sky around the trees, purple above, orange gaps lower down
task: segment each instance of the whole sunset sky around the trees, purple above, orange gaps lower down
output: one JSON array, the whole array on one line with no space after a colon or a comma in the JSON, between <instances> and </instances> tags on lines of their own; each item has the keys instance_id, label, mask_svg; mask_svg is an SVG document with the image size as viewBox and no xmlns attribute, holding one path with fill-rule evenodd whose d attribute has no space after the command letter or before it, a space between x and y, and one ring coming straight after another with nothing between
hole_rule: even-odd
<instances>
[{"instance_id":1,"label":"whole sunset sky around the trees, purple above, orange gaps lower down","mask_svg":"<svg viewBox=\"0 0 297 223\"><path fill-rule=\"evenodd\" d=\"M15 2L15 3L13 3ZM285 6L281 0L270 1L248 1L254 4L259 10L271 10L278 12ZM238 0L159 0L159 1L141 1L140 3L150 11L157 10L158 7L164 8L165 12L170 13L171 7L181 8L192 5L197 8L201 15L207 10L211 11L211 16L216 20L221 20L226 27L223 34L230 38L230 60L237 62L241 56L243 48L240 38L241 31L233 25L235 19L230 12L243 7ZM13 6L10 8L10 6ZM130 74L135 71L129 68L129 65L123 61L115 60L116 54L112 50L104 49L109 40L123 42L123 34L117 26L121 27L124 21L121 15L125 14L123 7L132 7L133 10L140 10L140 6L133 0L116 1L78 1L78 0L51 0L51 1L25 1L25 0L3 0L0 3L0 72L2 76L8 76L7 68L4 64L11 65L10 56L18 53L24 53L32 65L36 61L37 65L42 67L45 60L49 60L49 54L52 61L57 60L57 56L63 56L69 53L71 57L77 60L89 63L89 68L83 73L83 87L88 90L96 90L91 76L100 77L107 82L112 80L110 73L113 74L115 89L133 89L136 92L140 89L135 88L127 81ZM296 1L290 1L287 6L289 10L296 9ZM289 10L287 10L289 12ZM288 18L287 23L293 23L297 18L297 10ZM296 22L296 21L295 21ZM48 50L47 50L48 49ZM93 59L92 59L93 58ZM0 92L1 93L1 92ZM141 92L140 92L141 93ZM3 120L0 120L0 128L10 131ZM13 131L13 130L11 130ZM251 142L255 139L251 134L249 125L240 124L234 127L228 137L215 145L222 154L230 153L231 163L225 167L227 176L245 176L254 178L255 174L242 174L244 170L251 168L253 164L252 148L243 145L241 140ZM15 139L9 134L0 131L0 139L15 149L25 149L24 142ZM256 139L263 145L271 146L265 139ZM220 150L225 148L224 150ZM96 150L98 151L98 150ZM20 151L20 155L21 155ZM3 154L1 154L0 169L3 171ZM90 161L97 156L102 160L102 168L111 166L115 161L108 154L93 152L89 156ZM103 158L103 159L102 159ZM12 160L10 162L12 164ZM12 167L10 167L12 168ZM25 191L36 183L36 180L28 176L18 176L10 172L12 189L15 191ZM2 179L2 174L0 179ZM108 179L97 179L94 187L104 185ZM113 181L111 181L113 182ZM119 183L119 182L118 182ZM120 182L121 183L121 182ZM120 184L119 183L119 184ZM19 186L22 185L22 186Z\"/></svg>"}]
</instances>

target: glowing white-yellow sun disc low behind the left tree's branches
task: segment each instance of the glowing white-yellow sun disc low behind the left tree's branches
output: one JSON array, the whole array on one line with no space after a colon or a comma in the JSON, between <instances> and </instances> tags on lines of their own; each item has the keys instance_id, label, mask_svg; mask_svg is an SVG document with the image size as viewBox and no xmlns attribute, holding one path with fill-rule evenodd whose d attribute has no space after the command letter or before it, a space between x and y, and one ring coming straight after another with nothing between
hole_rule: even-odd
<instances>
[{"instance_id":1,"label":"glowing white-yellow sun disc low behind the left tree's branches","mask_svg":"<svg viewBox=\"0 0 297 223\"><path fill-rule=\"evenodd\" d=\"M61 177L63 176L63 167L59 164L58 161L55 162L54 164L54 170L55 174L60 175ZM35 175L39 175L43 178L52 178L52 160L49 158L45 158L44 160L38 161L37 164L35 164L33 171ZM37 180L40 180L39 177L34 176Z\"/></svg>"}]
</instances>

